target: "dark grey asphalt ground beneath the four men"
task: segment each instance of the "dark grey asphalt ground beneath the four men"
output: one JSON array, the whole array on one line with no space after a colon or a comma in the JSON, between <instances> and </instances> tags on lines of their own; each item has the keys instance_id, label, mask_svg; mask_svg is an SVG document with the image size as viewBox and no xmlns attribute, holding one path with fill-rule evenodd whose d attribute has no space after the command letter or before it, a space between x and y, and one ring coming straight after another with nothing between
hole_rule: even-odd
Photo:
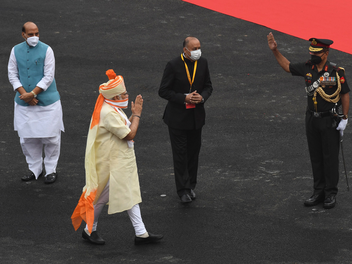
<instances>
[{"instance_id":1,"label":"dark grey asphalt ground beneath the four men","mask_svg":"<svg viewBox=\"0 0 352 264\"><path fill-rule=\"evenodd\" d=\"M0 14L1 263L352 263L351 193L341 154L337 206L304 207L313 191L304 81L279 67L266 35L274 33L292 62L309 58L308 41L180 0L1 0ZM13 131L7 63L26 21L54 50L63 106L58 180L50 185L20 180L28 168ZM188 35L201 42L214 91L205 105L197 199L182 205L162 121L166 101L157 91ZM332 50L329 60L352 78L350 54ZM107 206L98 223L105 245L87 243L83 224L77 232L71 225L85 184L89 122L108 69L124 77L130 100L144 98L135 139L140 208L147 231L164 234L159 243L135 246L127 212L108 215ZM348 124L350 176L351 136Z\"/></svg>"}]
</instances>

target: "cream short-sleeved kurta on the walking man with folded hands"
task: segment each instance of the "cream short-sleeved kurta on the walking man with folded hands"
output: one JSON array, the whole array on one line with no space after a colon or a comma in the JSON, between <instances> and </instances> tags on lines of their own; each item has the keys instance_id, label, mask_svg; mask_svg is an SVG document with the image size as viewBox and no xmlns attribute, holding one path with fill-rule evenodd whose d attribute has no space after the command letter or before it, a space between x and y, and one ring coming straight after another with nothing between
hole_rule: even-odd
<instances>
[{"instance_id":1,"label":"cream short-sleeved kurta on the walking man with folded hands","mask_svg":"<svg viewBox=\"0 0 352 264\"><path fill-rule=\"evenodd\" d=\"M123 139L131 131L125 122L114 108L103 102L94 143L98 189L93 204L110 179L108 214L131 209L142 202L134 148L128 148Z\"/></svg>"}]
</instances>

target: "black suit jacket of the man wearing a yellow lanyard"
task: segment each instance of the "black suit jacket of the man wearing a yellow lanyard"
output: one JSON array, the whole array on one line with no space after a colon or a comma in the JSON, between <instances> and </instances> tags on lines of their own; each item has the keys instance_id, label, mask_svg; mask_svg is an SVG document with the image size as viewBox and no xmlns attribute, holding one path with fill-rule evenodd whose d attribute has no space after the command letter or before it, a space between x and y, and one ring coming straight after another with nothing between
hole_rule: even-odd
<instances>
[{"instance_id":1,"label":"black suit jacket of the man wearing a yellow lanyard","mask_svg":"<svg viewBox=\"0 0 352 264\"><path fill-rule=\"evenodd\" d=\"M187 64L192 80L195 62L191 62L184 56L183 59ZM208 62L204 57L200 57L197 62L191 92L195 90L203 96L204 101L196 104L195 108L186 109L185 94L190 93L186 67L181 55L169 61L166 64L159 88L159 96L168 100L163 116L166 125L176 129L189 130L199 129L205 124L204 103L212 94L213 87L210 81Z\"/></svg>"}]
</instances>

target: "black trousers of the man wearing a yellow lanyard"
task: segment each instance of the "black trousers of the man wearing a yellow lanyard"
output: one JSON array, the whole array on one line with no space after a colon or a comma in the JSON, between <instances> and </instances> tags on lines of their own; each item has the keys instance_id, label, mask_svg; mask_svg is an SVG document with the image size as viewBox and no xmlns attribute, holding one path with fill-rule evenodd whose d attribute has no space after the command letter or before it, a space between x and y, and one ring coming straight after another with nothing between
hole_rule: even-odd
<instances>
[{"instance_id":1,"label":"black trousers of the man wearing a yellow lanyard","mask_svg":"<svg viewBox=\"0 0 352 264\"><path fill-rule=\"evenodd\" d=\"M169 127L178 196L190 194L197 183L202 128L181 130Z\"/></svg>"}]
</instances>

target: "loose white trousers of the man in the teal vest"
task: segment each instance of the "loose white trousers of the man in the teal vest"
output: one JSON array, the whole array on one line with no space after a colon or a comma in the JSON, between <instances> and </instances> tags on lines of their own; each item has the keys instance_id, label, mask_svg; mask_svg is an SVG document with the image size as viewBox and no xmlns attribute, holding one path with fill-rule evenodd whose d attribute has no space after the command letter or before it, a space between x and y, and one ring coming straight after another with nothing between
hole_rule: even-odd
<instances>
[{"instance_id":1,"label":"loose white trousers of the man in the teal vest","mask_svg":"<svg viewBox=\"0 0 352 264\"><path fill-rule=\"evenodd\" d=\"M43 170L43 145L46 175L56 172L57 161L60 156L60 140L61 131L56 137L20 138L22 151L26 156L28 168L34 173L36 179Z\"/></svg>"}]
</instances>

